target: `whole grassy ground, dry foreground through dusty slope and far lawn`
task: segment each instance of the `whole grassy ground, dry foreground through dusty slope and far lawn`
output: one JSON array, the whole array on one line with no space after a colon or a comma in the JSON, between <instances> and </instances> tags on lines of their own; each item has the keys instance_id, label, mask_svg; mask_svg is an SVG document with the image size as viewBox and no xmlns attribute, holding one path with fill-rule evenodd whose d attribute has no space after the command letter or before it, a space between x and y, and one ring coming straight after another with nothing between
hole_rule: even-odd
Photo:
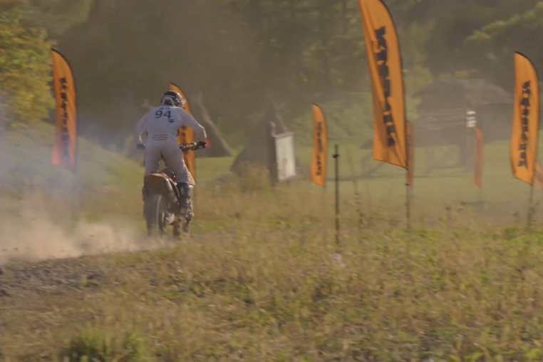
<instances>
[{"instance_id":1,"label":"whole grassy ground, dry foreground through dusty slope and far lawn","mask_svg":"<svg viewBox=\"0 0 543 362\"><path fill-rule=\"evenodd\" d=\"M159 245L142 237L141 167L82 140L76 194L51 133L0 142L0 360L543 358L543 234L524 231L506 143L485 148L487 210L460 205L477 200L470 172L425 175L418 157L411 232L403 170L358 180L360 200L341 182L339 244L331 184L271 190L254 171L217 187L232 158L197 160L195 234Z\"/></svg>"}]
</instances>

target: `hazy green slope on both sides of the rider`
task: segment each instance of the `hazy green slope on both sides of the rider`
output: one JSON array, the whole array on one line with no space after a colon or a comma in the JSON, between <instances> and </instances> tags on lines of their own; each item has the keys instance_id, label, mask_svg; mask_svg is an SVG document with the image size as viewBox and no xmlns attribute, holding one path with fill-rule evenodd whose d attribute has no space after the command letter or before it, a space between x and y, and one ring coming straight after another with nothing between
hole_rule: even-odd
<instances>
[{"instance_id":1,"label":"hazy green slope on both sides of the rider","mask_svg":"<svg viewBox=\"0 0 543 362\"><path fill-rule=\"evenodd\" d=\"M79 217L108 222L140 221L142 165L80 138L78 173L73 175L51 163L53 139L54 128L46 123L1 135L0 200L4 200L4 205L7 200L13 204L21 198L40 199L40 207L54 210L51 217L66 219L73 215L74 202L78 202ZM226 173L231 162L232 158L199 159L198 180L203 182ZM11 211L12 208L2 208L4 213Z\"/></svg>"}]
</instances>

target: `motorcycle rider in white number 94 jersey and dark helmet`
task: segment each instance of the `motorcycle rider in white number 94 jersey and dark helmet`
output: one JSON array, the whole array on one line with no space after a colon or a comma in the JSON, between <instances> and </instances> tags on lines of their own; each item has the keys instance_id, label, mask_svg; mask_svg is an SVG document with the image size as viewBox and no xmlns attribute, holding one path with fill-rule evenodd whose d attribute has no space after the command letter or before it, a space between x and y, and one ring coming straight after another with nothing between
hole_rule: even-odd
<instances>
[{"instance_id":1,"label":"motorcycle rider in white number 94 jersey and dark helmet","mask_svg":"<svg viewBox=\"0 0 543 362\"><path fill-rule=\"evenodd\" d=\"M162 95L161 105L153 108L140 119L138 125L134 128L134 139L137 148L145 149L144 165L145 177L153 172L158 172L160 160L163 159L167 167L175 173L177 177L177 190L180 193L180 208L187 210L190 188L188 185L189 171L183 152L177 144L177 136L183 125L192 128L195 133L202 136L202 140L207 140L205 128L198 123L194 117L182 108L185 107L185 99L173 91L168 90ZM141 134L147 131L147 145L143 146ZM148 184L143 181L143 202L148 195Z\"/></svg>"}]
</instances>

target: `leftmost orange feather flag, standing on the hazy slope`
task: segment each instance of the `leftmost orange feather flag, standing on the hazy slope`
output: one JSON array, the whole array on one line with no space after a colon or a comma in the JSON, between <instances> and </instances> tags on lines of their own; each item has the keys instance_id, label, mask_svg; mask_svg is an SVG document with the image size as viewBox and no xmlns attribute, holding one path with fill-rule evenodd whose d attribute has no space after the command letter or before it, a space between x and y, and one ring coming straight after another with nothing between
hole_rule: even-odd
<instances>
[{"instance_id":1,"label":"leftmost orange feather flag, standing on the hazy slope","mask_svg":"<svg viewBox=\"0 0 543 362\"><path fill-rule=\"evenodd\" d=\"M77 102L76 82L68 61L51 49L53 84L56 98L56 133L53 146L54 165L77 172Z\"/></svg>"}]
</instances>

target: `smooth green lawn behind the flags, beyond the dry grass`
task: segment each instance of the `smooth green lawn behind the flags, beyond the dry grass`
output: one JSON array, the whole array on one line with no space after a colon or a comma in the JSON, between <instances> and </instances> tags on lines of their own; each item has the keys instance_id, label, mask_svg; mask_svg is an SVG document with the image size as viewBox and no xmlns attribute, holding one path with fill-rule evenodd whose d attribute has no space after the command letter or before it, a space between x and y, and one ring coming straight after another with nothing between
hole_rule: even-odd
<instances>
[{"instance_id":1,"label":"smooth green lawn behind the flags, beyond the dry grass","mask_svg":"<svg viewBox=\"0 0 543 362\"><path fill-rule=\"evenodd\" d=\"M543 145L543 143L542 143ZM444 149L441 152L447 152ZM296 148L303 169L309 170L311 160L311 147L300 145ZM333 143L329 146L328 177L329 185L326 192L333 192L334 163L331 157ZM361 160L370 154L371 150L361 150L358 144L348 143L340 145L340 191L343 195L352 195L354 192L351 180L353 172L361 175ZM349 161L349 155L352 163ZM450 155L451 158L455 155ZM199 159L199 180L213 180L224 175L233 162L233 157L220 159ZM371 160L367 167L378 163ZM358 177L357 177L358 178ZM443 170L425 170L424 149L415 149L415 179L413 190L414 207L420 212L431 207L459 206L462 202L477 202L482 192L483 200L488 204L487 212L501 216L522 212L527 207L529 185L520 182L512 176L510 166L509 143L495 142L485 145L485 167L483 170L482 190L472 184L472 170L451 168ZM371 177L357 180L358 192L361 194L363 205L371 208L381 203L401 204L405 202L405 170L392 165L384 165ZM314 187L315 185L308 185ZM541 190L535 191L535 200L542 198Z\"/></svg>"}]
</instances>

